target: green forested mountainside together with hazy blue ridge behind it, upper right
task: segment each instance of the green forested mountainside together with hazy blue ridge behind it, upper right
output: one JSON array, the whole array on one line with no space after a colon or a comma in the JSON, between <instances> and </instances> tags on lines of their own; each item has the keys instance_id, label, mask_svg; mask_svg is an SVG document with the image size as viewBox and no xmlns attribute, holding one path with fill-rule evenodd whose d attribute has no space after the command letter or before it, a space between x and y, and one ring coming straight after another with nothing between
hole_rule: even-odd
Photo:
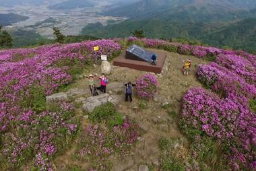
<instances>
[{"instance_id":1,"label":"green forested mountainside together with hazy blue ridge behind it, upper right","mask_svg":"<svg viewBox=\"0 0 256 171\"><path fill-rule=\"evenodd\" d=\"M127 17L119 24L89 24L82 33L103 38L127 37L143 30L150 38L197 39L256 53L255 0L141 0L102 15Z\"/></svg>"}]
</instances>

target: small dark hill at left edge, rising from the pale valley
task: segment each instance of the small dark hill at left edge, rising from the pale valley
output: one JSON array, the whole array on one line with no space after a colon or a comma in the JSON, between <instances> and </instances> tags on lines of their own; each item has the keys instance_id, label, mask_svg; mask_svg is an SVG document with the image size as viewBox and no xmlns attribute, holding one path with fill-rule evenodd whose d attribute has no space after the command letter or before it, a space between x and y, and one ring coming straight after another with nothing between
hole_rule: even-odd
<instances>
[{"instance_id":1,"label":"small dark hill at left edge, rising from the pale valley","mask_svg":"<svg viewBox=\"0 0 256 171\"><path fill-rule=\"evenodd\" d=\"M27 20L28 17L15 13L0 13L0 26L10 26L15 22Z\"/></svg>"}]
</instances>

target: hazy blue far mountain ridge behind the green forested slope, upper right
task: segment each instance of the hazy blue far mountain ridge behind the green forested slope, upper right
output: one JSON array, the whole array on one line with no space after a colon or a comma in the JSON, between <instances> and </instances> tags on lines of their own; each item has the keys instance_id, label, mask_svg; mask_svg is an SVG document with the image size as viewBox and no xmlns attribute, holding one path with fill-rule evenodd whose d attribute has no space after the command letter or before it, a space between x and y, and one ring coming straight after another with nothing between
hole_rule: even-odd
<instances>
[{"instance_id":1,"label":"hazy blue far mountain ridge behind the green forested slope, upper right","mask_svg":"<svg viewBox=\"0 0 256 171\"><path fill-rule=\"evenodd\" d=\"M249 10L256 8L254 0L242 2L242 0L142 0L104 11L102 14L128 17L131 20L161 18L181 22L230 21L246 18Z\"/></svg>"}]
</instances>

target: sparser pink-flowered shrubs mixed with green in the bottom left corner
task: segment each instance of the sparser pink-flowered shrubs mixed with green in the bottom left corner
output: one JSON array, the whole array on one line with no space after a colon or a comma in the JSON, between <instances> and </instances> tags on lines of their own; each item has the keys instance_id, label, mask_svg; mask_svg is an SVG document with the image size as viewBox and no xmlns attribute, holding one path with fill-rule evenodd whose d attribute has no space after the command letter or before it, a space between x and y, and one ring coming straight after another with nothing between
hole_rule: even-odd
<instances>
[{"instance_id":1,"label":"sparser pink-flowered shrubs mixed with green in the bottom left corner","mask_svg":"<svg viewBox=\"0 0 256 171\"><path fill-rule=\"evenodd\" d=\"M0 168L20 168L23 162L34 158L34 166L51 170L50 159L77 131L73 106L66 102L58 102L57 106L60 107L40 114L28 110L13 119L12 131L1 134Z\"/></svg>"}]
</instances>

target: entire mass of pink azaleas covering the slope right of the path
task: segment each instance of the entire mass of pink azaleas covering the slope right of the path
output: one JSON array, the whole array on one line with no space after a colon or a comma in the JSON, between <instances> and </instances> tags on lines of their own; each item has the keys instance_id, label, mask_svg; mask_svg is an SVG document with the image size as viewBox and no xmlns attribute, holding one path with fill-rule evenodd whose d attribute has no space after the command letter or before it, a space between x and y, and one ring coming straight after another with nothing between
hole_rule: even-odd
<instances>
[{"instance_id":1,"label":"entire mass of pink azaleas covering the slope right of the path","mask_svg":"<svg viewBox=\"0 0 256 171\"><path fill-rule=\"evenodd\" d=\"M249 100L256 98L256 73L251 57L218 55L217 63L200 65L197 77L212 92L193 88L183 98L183 130L221 141L230 170L256 169L256 115L249 108Z\"/></svg>"}]
</instances>

